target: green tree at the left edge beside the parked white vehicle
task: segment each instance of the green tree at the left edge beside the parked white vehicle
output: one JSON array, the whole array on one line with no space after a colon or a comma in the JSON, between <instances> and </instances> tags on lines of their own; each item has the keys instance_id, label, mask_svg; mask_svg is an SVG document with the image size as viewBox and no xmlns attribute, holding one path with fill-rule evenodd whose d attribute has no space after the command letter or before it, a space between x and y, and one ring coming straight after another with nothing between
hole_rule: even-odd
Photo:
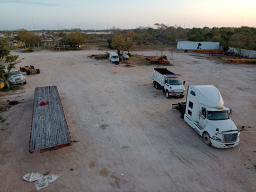
<instances>
[{"instance_id":1,"label":"green tree at the left edge beside the parked white vehicle","mask_svg":"<svg viewBox=\"0 0 256 192\"><path fill-rule=\"evenodd\" d=\"M7 72L3 68L0 68L0 78L4 80L4 83L9 88L8 77L10 70L15 67L15 64L19 63L22 59L18 59L18 55L10 54L11 50L14 50L16 47L9 45L9 39L0 39L0 61L5 61L8 63Z\"/></svg>"}]
</instances>

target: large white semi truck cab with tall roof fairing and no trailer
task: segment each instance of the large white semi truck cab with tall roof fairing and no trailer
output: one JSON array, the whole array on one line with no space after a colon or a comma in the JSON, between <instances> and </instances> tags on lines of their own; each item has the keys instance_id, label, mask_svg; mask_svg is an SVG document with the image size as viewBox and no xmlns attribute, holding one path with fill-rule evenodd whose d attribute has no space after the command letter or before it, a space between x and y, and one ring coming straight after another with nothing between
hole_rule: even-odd
<instances>
[{"instance_id":1,"label":"large white semi truck cab with tall roof fairing and no trailer","mask_svg":"<svg viewBox=\"0 0 256 192\"><path fill-rule=\"evenodd\" d=\"M187 124L202 136L205 144L228 148L239 143L240 133L229 117L232 109L223 104L221 94L215 86L189 85L186 102L172 106L178 109Z\"/></svg>"}]
</instances>

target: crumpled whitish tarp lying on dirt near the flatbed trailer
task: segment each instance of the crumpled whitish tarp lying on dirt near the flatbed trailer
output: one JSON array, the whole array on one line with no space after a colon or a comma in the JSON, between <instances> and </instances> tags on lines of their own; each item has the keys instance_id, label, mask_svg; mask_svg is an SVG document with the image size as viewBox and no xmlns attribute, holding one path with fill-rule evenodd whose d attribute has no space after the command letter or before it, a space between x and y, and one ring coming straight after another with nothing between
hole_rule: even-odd
<instances>
[{"instance_id":1,"label":"crumpled whitish tarp lying on dirt near the flatbed trailer","mask_svg":"<svg viewBox=\"0 0 256 192\"><path fill-rule=\"evenodd\" d=\"M47 174L47 175L42 175L39 174L38 172L36 173L26 173L24 176L22 176L21 179L32 182L35 181L34 185L37 190L40 190L41 188L47 186L54 180L56 180L59 176L56 174Z\"/></svg>"}]
</instances>

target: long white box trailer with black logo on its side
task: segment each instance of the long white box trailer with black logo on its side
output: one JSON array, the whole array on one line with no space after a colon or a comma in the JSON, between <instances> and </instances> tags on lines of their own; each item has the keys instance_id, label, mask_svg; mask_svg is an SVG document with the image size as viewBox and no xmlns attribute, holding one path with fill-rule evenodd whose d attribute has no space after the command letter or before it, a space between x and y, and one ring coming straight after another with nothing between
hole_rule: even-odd
<instances>
[{"instance_id":1,"label":"long white box trailer with black logo on its side","mask_svg":"<svg viewBox=\"0 0 256 192\"><path fill-rule=\"evenodd\" d=\"M218 50L219 42L209 41L178 41L177 49L185 50Z\"/></svg>"}]
</instances>

